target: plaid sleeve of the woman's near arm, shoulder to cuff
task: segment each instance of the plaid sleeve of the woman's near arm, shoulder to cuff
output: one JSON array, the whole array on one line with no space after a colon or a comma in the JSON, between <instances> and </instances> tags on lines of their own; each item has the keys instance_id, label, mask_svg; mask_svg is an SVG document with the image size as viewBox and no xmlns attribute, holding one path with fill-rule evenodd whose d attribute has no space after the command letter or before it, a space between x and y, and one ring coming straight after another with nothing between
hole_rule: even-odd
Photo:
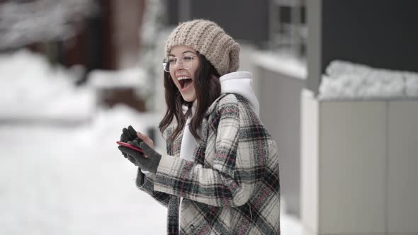
<instances>
[{"instance_id":1,"label":"plaid sleeve of the woman's near arm, shoulder to cuff","mask_svg":"<svg viewBox=\"0 0 418 235\"><path fill-rule=\"evenodd\" d=\"M251 167L242 169L245 172L235 167L236 161L251 162L250 154L241 154L239 149L239 113L237 102L225 103L219 105L213 122L209 123L217 128L215 143L208 143L215 144L215 156L205 156L213 158L211 168L173 156L162 156L154 190L213 206L244 205L254 190L254 180L248 175L254 174L247 172ZM242 150L246 151L245 148Z\"/></svg>"}]
</instances>

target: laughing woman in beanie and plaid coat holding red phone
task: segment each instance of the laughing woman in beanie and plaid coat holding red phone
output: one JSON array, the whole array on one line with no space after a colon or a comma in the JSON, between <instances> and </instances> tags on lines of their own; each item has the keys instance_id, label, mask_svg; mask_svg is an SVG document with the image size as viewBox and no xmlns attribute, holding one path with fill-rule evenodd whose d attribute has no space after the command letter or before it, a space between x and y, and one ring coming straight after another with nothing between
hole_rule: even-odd
<instances>
[{"instance_id":1,"label":"laughing woman in beanie and plaid coat holding red phone","mask_svg":"<svg viewBox=\"0 0 418 235\"><path fill-rule=\"evenodd\" d=\"M132 127L120 139L145 154L118 148L139 166L137 187L168 207L168 234L280 234L276 142L237 42L211 21L181 23L163 67L167 154Z\"/></svg>"}]
</instances>

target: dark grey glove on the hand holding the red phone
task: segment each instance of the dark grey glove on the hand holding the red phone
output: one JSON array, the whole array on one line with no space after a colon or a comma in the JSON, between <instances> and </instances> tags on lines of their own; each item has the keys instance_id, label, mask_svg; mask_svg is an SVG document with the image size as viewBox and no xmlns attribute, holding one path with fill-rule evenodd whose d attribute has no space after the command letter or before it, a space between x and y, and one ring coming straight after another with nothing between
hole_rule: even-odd
<instances>
[{"instance_id":1,"label":"dark grey glove on the hand holding the red phone","mask_svg":"<svg viewBox=\"0 0 418 235\"><path fill-rule=\"evenodd\" d=\"M151 173L157 173L157 168L159 161L161 160L161 154L157 153L154 149L145 144L145 142L138 142L136 139L133 142L128 142L133 146L142 149L147 158L140 151L135 149L130 149L128 147L119 146L118 149L125 153L128 156L128 159L132 161L135 166L139 166L144 171L149 171ZM132 160L130 159L132 158Z\"/></svg>"}]
</instances>

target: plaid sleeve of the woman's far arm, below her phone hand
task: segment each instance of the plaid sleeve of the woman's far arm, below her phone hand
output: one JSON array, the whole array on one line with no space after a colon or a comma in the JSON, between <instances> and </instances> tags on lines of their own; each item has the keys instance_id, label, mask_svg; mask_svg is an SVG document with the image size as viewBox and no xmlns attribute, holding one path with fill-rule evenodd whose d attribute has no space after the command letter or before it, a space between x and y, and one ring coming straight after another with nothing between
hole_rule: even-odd
<instances>
[{"instance_id":1,"label":"plaid sleeve of the woman's far arm, below her phone hand","mask_svg":"<svg viewBox=\"0 0 418 235\"><path fill-rule=\"evenodd\" d=\"M140 168L138 168L136 184L140 190L151 195L151 197L164 205L164 207L168 207L171 195L154 191L154 178L152 176L145 176Z\"/></svg>"}]
</instances>

